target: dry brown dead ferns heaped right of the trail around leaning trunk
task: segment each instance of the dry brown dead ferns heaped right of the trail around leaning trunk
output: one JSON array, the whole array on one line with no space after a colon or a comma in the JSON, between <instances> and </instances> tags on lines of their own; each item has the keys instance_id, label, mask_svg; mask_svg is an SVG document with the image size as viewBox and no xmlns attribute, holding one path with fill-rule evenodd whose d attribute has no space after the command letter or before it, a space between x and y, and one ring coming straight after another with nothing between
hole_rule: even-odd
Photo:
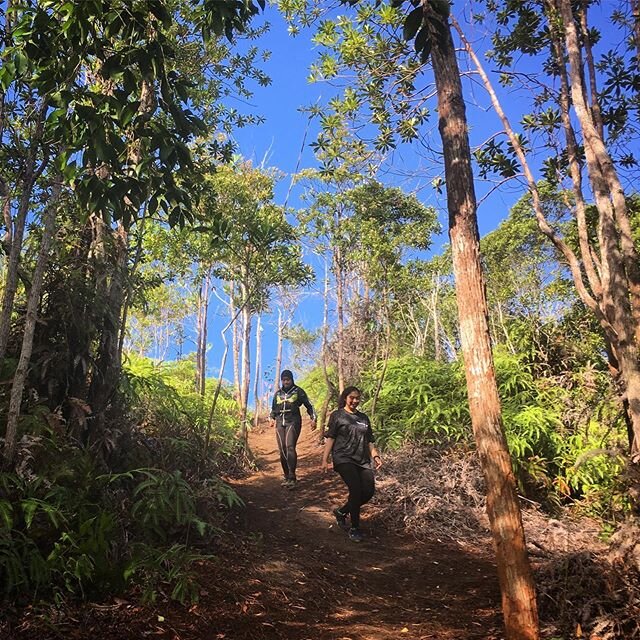
<instances>
[{"instance_id":1,"label":"dry brown dead ferns heaped right of the trail around leaning trunk","mask_svg":"<svg viewBox=\"0 0 640 640\"><path fill-rule=\"evenodd\" d=\"M404 522L419 540L454 541L491 552L484 482L477 456L466 451L406 447L386 456L378 478L378 516ZM640 525L620 527L609 544L598 523L555 517L523 502L543 636L640 638Z\"/></svg>"}]
</instances>

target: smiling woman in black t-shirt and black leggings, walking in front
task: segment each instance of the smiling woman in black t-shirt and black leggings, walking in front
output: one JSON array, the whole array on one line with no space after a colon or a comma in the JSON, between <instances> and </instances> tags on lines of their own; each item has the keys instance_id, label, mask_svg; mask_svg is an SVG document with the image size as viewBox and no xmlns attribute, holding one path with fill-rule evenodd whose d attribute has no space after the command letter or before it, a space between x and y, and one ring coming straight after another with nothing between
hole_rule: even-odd
<instances>
[{"instance_id":1,"label":"smiling woman in black t-shirt and black leggings, walking in front","mask_svg":"<svg viewBox=\"0 0 640 640\"><path fill-rule=\"evenodd\" d=\"M347 387L340 394L338 409L329 417L322 453L322 470L326 472L329 469L331 455L333 468L349 489L347 502L334 509L333 515L343 529L347 528L347 517L351 518L349 538L353 542L362 542L360 507L373 497L373 471L382 465L371 422L367 415L357 410L360 395L357 387Z\"/></svg>"}]
</instances>

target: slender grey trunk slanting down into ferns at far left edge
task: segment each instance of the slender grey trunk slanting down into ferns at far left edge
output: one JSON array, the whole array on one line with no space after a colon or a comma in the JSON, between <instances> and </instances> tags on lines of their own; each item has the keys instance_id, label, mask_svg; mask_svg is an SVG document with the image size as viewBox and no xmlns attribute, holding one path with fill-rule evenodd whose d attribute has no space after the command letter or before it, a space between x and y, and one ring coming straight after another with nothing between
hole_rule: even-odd
<instances>
[{"instance_id":1,"label":"slender grey trunk slanting down into ferns at far left edge","mask_svg":"<svg viewBox=\"0 0 640 640\"><path fill-rule=\"evenodd\" d=\"M56 208L61 191L61 184L56 183L53 187L53 195L44 212L44 229L42 233L40 251L38 253L38 260L36 262L36 268L33 273L31 289L27 300L27 313L24 332L22 334L22 347L20 350L20 357L18 359L18 367L15 371L13 383L11 385L9 411L7 414L7 428L3 450L3 466L5 468L11 467L16 453L16 436L18 433L18 419L20 417L20 408L22 405L22 394L24 392L25 382L29 372L29 363L31 361L31 353L33 350L33 335L38 319L38 306L40 304L42 281L49 262L49 252L55 234Z\"/></svg>"}]
</instances>

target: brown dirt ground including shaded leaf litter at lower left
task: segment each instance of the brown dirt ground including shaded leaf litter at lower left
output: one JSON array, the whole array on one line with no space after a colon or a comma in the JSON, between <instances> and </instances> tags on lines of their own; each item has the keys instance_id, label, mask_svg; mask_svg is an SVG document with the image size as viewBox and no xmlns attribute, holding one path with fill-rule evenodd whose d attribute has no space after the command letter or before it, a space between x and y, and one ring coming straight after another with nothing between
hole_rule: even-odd
<instances>
[{"instance_id":1,"label":"brown dirt ground including shaded leaf litter at lower left","mask_svg":"<svg viewBox=\"0 0 640 640\"><path fill-rule=\"evenodd\" d=\"M250 435L256 471L232 482L245 507L198 571L200 600L181 606L136 594L74 609L26 609L7 640L500 640L500 594L490 545L416 540L389 526L376 499L360 544L335 524L345 496L320 469L318 433L298 443L298 486L280 486L273 430ZM16 612L17 613L17 612ZM2 635L2 634L0 634Z\"/></svg>"}]
</instances>

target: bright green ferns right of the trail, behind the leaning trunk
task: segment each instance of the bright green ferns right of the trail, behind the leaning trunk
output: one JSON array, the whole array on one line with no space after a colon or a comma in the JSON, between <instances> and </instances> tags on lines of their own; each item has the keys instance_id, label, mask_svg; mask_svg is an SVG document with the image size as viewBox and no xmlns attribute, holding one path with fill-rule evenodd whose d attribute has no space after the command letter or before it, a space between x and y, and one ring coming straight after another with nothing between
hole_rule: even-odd
<instances>
[{"instance_id":1,"label":"bright green ferns right of the trail, behind the leaning trunk","mask_svg":"<svg viewBox=\"0 0 640 640\"><path fill-rule=\"evenodd\" d=\"M495 367L502 420L520 490L548 507L561 503L604 519L630 508L626 497L625 428L606 371L576 373L573 382L534 374L526 357L498 349ZM363 375L367 411L379 372ZM587 377L580 380L580 376ZM595 377L594 377L595 376ZM471 422L464 371L407 356L389 362L374 429L381 446L406 442L469 446ZM589 416L585 421L583 415Z\"/></svg>"}]
</instances>

